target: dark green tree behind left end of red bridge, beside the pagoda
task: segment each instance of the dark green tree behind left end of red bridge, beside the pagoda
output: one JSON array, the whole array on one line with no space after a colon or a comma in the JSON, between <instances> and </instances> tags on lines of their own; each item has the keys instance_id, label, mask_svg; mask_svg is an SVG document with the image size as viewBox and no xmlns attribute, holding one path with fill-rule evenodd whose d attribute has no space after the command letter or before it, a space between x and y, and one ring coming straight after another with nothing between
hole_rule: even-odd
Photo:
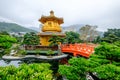
<instances>
[{"instance_id":1,"label":"dark green tree behind left end of red bridge, beside the pagoda","mask_svg":"<svg viewBox=\"0 0 120 80\"><path fill-rule=\"evenodd\" d=\"M65 43L74 44L74 43L81 42L81 40L79 38L80 37L79 33L70 31L70 32L66 32L65 34L66 34Z\"/></svg>"}]
</instances>

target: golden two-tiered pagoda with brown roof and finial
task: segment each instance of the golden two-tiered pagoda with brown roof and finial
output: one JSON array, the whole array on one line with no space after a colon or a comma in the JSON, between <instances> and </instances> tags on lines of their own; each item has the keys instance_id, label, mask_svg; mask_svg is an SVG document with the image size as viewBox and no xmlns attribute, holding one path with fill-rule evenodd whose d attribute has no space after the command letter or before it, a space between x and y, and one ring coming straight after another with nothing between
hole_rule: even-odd
<instances>
[{"instance_id":1,"label":"golden two-tiered pagoda with brown roof and finial","mask_svg":"<svg viewBox=\"0 0 120 80\"><path fill-rule=\"evenodd\" d=\"M42 46L49 46L49 39L52 35L64 37L65 34L61 33L62 29L60 24L63 23L63 18L54 16L54 12L50 11L50 16L42 16L39 21L43 24L42 33L39 33L40 44Z\"/></svg>"}]
</instances>

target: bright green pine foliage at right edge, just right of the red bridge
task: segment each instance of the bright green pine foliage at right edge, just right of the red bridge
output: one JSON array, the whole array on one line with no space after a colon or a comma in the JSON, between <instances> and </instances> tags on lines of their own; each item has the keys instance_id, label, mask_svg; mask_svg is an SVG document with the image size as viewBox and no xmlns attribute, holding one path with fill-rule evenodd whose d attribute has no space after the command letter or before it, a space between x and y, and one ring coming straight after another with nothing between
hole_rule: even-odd
<instances>
[{"instance_id":1,"label":"bright green pine foliage at right edge, just right of the red bridge","mask_svg":"<svg viewBox=\"0 0 120 80\"><path fill-rule=\"evenodd\" d=\"M120 60L120 47L109 44L103 43L99 47L95 49L95 54L105 56L106 59L111 61L119 61Z\"/></svg>"}]
</instances>

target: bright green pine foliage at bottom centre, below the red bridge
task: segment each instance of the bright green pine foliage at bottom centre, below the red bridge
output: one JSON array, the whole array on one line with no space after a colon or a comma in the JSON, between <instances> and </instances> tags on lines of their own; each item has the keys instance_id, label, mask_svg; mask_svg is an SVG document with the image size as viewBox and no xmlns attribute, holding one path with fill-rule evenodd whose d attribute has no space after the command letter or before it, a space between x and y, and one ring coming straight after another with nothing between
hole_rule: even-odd
<instances>
[{"instance_id":1,"label":"bright green pine foliage at bottom centre, below the red bridge","mask_svg":"<svg viewBox=\"0 0 120 80\"><path fill-rule=\"evenodd\" d=\"M60 65L59 73L66 76L68 80L85 80L88 61L84 58L72 58L70 65Z\"/></svg>"}]
</instances>

